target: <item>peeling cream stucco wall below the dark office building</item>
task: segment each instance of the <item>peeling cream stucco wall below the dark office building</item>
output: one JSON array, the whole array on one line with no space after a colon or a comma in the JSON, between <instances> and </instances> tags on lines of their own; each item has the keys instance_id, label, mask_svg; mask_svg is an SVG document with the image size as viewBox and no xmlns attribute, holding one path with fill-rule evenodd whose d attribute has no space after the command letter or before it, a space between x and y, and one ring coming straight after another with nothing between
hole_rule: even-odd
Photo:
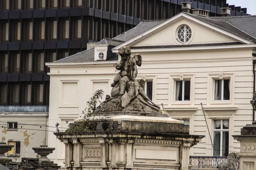
<instances>
[{"instance_id":1,"label":"peeling cream stucco wall below the dark office building","mask_svg":"<svg viewBox=\"0 0 256 170\"><path fill-rule=\"evenodd\" d=\"M6 143L20 141L20 154L6 156L16 162L20 162L23 157L39 158L32 147L47 142L47 116L48 112L1 112L0 140ZM7 122L17 122L17 130L9 130Z\"/></svg>"}]
</instances>

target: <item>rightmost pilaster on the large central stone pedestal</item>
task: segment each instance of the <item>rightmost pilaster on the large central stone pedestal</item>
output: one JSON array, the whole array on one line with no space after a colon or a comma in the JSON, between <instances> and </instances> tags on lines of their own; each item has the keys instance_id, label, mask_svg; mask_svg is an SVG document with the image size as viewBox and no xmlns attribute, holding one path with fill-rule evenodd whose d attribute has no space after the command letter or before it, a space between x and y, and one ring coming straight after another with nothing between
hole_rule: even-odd
<instances>
[{"instance_id":1,"label":"rightmost pilaster on the large central stone pedestal","mask_svg":"<svg viewBox=\"0 0 256 170\"><path fill-rule=\"evenodd\" d=\"M190 150L191 144L190 143L183 143L180 146L180 164L181 169L180 170L189 170L189 150Z\"/></svg>"}]
</instances>

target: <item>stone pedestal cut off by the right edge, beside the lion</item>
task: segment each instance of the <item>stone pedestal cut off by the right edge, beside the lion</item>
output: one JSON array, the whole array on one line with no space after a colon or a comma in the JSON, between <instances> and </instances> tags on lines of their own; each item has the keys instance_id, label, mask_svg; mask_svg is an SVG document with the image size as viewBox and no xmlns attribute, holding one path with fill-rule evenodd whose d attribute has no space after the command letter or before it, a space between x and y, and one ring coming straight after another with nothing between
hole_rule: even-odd
<instances>
[{"instance_id":1,"label":"stone pedestal cut off by the right edge, beside the lion","mask_svg":"<svg viewBox=\"0 0 256 170\"><path fill-rule=\"evenodd\" d=\"M240 169L255 170L256 168L256 122L241 128L241 135L234 135L240 142Z\"/></svg>"}]
</instances>

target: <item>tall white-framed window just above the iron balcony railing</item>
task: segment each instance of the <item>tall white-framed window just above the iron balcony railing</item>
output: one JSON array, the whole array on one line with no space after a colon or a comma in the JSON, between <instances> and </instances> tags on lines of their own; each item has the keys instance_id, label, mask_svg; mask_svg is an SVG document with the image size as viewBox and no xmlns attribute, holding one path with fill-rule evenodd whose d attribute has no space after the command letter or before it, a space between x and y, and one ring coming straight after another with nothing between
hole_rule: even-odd
<instances>
[{"instance_id":1,"label":"tall white-framed window just above the iron balcony railing","mask_svg":"<svg viewBox=\"0 0 256 170\"><path fill-rule=\"evenodd\" d=\"M213 120L213 156L227 156L229 149L229 120Z\"/></svg>"}]
</instances>

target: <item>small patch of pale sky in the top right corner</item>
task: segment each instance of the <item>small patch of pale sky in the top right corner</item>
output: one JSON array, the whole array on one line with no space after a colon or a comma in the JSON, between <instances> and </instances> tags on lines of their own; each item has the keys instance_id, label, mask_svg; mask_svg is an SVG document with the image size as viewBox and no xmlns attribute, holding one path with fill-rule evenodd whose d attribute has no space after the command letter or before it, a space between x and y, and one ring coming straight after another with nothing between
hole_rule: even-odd
<instances>
[{"instance_id":1,"label":"small patch of pale sky in the top right corner","mask_svg":"<svg viewBox=\"0 0 256 170\"><path fill-rule=\"evenodd\" d=\"M247 8L247 14L256 15L256 0L227 0L227 3Z\"/></svg>"}]
</instances>

